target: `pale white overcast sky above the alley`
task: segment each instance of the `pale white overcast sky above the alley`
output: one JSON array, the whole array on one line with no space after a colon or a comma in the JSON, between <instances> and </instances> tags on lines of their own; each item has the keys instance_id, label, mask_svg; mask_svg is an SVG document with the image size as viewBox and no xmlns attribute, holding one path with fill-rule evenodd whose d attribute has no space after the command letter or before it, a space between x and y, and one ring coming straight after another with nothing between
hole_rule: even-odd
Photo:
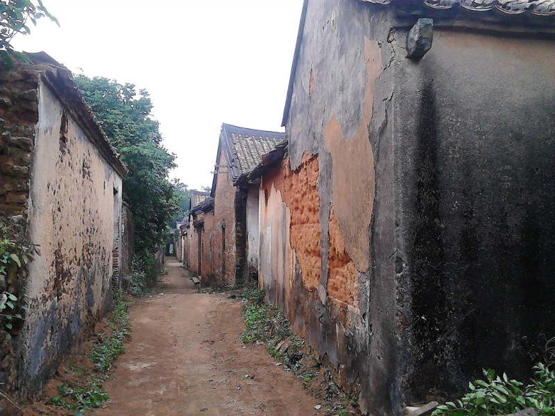
<instances>
[{"instance_id":1,"label":"pale white overcast sky above the alley","mask_svg":"<svg viewBox=\"0 0 555 416\"><path fill-rule=\"evenodd\" d=\"M43 0L60 21L17 35L76 73L151 94L170 173L212 184L221 123L281 127L302 0Z\"/></svg>"}]
</instances>

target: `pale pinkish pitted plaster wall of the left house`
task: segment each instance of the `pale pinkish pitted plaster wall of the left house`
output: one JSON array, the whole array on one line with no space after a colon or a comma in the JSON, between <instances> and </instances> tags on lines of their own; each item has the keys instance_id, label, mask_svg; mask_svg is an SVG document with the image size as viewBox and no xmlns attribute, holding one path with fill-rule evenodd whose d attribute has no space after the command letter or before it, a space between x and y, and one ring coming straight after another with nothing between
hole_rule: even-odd
<instances>
[{"instance_id":1,"label":"pale pinkish pitted plaster wall of the left house","mask_svg":"<svg viewBox=\"0 0 555 416\"><path fill-rule=\"evenodd\" d=\"M39 114L28 237L42 255L31 263L26 285L29 310L16 349L19 395L37 392L62 354L107 311L114 224L121 225L114 218L121 213L121 177L44 83Z\"/></svg>"}]
</instances>

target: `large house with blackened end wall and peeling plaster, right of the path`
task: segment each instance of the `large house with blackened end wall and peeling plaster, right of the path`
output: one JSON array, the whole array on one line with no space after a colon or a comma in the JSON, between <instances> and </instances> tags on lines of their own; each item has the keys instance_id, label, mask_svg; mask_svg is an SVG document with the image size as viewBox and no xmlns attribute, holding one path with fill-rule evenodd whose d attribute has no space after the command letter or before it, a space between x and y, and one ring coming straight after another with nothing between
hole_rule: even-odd
<instances>
[{"instance_id":1,"label":"large house with blackened end wall and peeling plaster, right of the path","mask_svg":"<svg viewBox=\"0 0 555 416\"><path fill-rule=\"evenodd\" d=\"M555 336L554 99L553 0L305 0L259 274L366 412Z\"/></svg>"}]
</instances>

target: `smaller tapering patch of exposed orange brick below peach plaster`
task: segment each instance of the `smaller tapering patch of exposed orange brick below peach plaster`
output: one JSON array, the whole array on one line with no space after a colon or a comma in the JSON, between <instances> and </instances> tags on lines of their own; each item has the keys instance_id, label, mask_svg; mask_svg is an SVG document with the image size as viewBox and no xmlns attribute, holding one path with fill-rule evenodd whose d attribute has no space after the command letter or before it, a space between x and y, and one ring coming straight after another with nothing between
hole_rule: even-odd
<instances>
[{"instance_id":1,"label":"smaller tapering patch of exposed orange brick below peach plaster","mask_svg":"<svg viewBox=\"0 0 555 416\"><path fill-rule=\"evenodd\" d=\"M345 242L333 208L330 211L330 251L327 258L327 294L335 300L359 307L357 267L345 250Z\"/></svg>"}]
</instances>

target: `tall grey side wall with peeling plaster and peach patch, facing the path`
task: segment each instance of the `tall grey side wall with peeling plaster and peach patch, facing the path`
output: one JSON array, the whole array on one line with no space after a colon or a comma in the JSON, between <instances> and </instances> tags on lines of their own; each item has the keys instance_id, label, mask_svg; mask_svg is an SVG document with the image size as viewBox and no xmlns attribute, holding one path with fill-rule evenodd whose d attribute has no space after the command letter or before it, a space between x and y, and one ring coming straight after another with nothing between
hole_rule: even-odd
<instances>
[{"instance_id":1,"label":"tall grey side wall with peeling plaster and peach patch, facing the path","mask_svg":"<svg viewBox=\"0 0 555 416\"><path fill-rule=\"evenodd\" d=\"M318 155L321 234L317 295L298 291L289 303L309 310L310 319L302 319L311 344L344 387L359 384L361 406L375 415L400 414L404 404L391 13L354 0L308 2L286 123L291 169L305 152ZM341 278L350 282L348 291L336 290Z\"/></svg>"}]
</instances>

